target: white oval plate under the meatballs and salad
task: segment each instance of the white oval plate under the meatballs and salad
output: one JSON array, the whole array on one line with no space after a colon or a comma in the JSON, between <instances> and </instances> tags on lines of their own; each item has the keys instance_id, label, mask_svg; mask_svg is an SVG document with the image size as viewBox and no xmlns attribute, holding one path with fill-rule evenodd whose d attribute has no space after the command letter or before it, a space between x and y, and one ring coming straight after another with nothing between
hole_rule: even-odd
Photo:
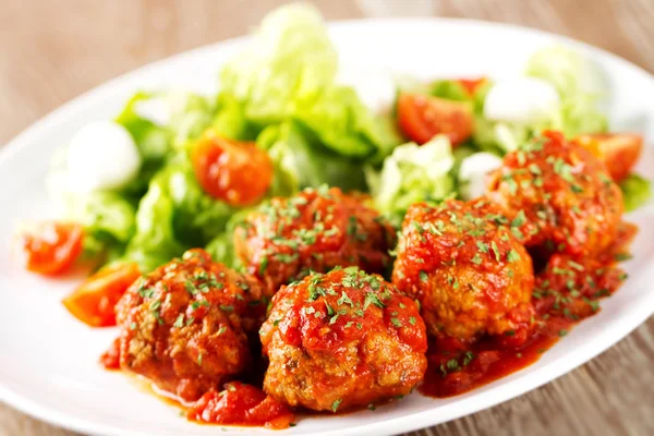
<instances>
[{"instance_id":1,"label":"white oval plate under the meatballs and salad","mask_svg":"<svg viewBox=\"0 0 654 436\"><path fill-rule=\"evenodd\" d=\"M568 44L595 60L607 77L615 130L642 132L654 143L654 78L607 52L554 35L459 20L365 20L332 24L344 59L419 77L516 75L537 48ZM214 90L219 66L244 38L199 48L119 77L64 105L16 137L0 154L0 400L51 423L95 435L215 435L179 411L104 371L97 359L114 329L90 329L70 316L60 300L75 280L47 280L10 259L9 242L24 218L49 214L44 173L53 150L82 125L116 116L141 88ZM639 170L654 174L652 149ZM651 207L629 217L641 225L630 278L536 364L501 380L448 399L417 393L402 401L344 416L302 419L282 434L382 435L409 432L470 414L522 395L589 361L644 322L654 311L654 216ZM228 428L227 434L270 433ZM220 433L225 434L225 433Z\"/></svg>"}]
</instances>

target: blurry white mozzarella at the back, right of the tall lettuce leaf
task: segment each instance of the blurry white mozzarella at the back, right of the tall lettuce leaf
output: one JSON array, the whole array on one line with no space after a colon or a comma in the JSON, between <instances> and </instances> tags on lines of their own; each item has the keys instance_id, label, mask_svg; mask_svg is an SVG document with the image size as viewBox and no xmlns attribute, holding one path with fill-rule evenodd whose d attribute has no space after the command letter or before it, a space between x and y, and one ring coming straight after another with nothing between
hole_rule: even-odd
<instances>
[{"instance_id":1,"label":"blurry white mozzarella at the back, right of the tall lettuce leaf","mask_svg":"<svg viewBox=\"0 0 654 436\"><path fill-rule=\"evenodd\" d=\"M351 86L361 102L374 112L390 109L396 98L392 74L379 65L340 62L336 83Z\"/></svg>"}]
</instances>

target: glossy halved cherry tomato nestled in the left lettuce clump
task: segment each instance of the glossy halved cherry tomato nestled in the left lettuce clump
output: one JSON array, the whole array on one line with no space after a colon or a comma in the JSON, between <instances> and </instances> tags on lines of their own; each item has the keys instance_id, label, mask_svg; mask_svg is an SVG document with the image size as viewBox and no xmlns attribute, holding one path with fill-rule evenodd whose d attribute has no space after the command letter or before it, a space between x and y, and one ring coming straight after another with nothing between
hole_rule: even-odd
<instances>
[{"instance_id":1,"label":"glossy halved cherry tomato nestled in the left lettuce clump","mask_svg":"<svg viewBox=\"0 0 654 436\"><path fill-rule=\"evenodd\" d=\"M272 161L266 152L210 130L193 147L191 160L202 187L233 206L257 203L272 183Z\"/></svg>"}]
</instances>

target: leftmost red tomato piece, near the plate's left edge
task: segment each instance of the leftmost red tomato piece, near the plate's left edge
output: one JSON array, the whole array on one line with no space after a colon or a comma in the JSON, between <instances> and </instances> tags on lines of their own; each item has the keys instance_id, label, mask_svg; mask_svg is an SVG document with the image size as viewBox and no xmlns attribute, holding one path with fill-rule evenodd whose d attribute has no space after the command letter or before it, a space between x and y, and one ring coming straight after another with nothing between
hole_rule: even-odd
<instances>
[{"instance_id":1,"label":"leftmost red tomato piece, near the plate's left edge","mask_svg":"<svg viewBox=\"0 0 654 436\"><path fill-rule=\"evenodd\" d=\"M80 256L84 230L74 222L47 221L23 232L20 238L25 267L50 276L65 271Z\"/></svg>"}]
</instances>

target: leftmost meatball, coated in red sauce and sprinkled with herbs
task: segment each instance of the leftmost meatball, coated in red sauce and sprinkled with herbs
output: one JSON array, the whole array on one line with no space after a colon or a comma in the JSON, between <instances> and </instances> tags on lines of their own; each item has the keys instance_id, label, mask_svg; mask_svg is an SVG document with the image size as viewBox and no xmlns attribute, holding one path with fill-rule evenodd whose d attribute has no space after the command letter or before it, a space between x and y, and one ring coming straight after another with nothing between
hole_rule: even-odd
<instances>
[{"instance_id":1,"label":"leftmost meatball, coated in red sauce and sprinkled with herbs","mask_svg":"<svg viewBox=\"0 0 654 436\"><path fill-rule=\"evenodd\" d=\"M120 366L185 401L249 368L261 284L203 250L137 279L117 305Z\"/></svg>"}]
</instances>

